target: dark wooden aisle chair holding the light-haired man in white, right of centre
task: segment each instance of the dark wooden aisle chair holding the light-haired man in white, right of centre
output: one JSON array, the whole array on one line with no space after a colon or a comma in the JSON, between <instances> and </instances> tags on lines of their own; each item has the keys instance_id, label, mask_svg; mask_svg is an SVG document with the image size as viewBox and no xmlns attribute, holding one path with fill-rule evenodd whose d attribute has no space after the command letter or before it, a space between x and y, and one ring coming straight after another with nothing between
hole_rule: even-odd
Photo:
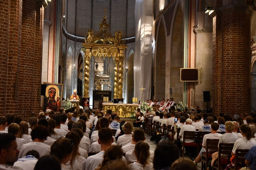
<instances>
[{"instance_id":1,"label":"dark wooden aisle chair holding the light-haired man in white, right of centre","mask_svg":"<svg viewBox=\"0 0 256 170\"><path fill-rule=\"evenodd\" d=\"M180 130L180 129L178 129ZM178 136L178 132L177 132L177 138L179 137ZM191 140L196 140L198 139L198 132L193 132L193 131L184 131L183 133L183 143L181 143L181 148L180 148L180 155L181 155L181 151L182 151L182 157L185 156L185 147L196 147L198 146L197 143L194 143L194 142L191 142L191 143L188 143L186 142L186 139L191 139Z\"/></svg>"}]
</instances>

